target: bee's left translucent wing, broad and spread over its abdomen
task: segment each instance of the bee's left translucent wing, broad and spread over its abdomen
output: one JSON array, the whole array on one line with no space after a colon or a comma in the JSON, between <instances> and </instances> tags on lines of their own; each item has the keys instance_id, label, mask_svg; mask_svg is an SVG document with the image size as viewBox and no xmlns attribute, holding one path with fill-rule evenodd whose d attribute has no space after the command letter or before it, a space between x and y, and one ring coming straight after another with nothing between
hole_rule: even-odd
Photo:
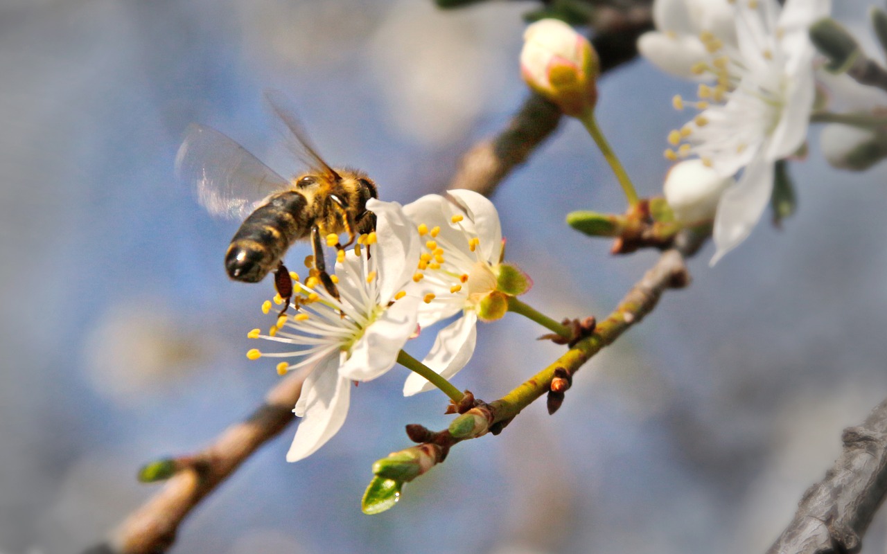
<instances>
[{"instance_id":1,"label":"bee's left translucent wing, broad and spread over its abdomen","mask_svg":"<svg viewBox=\"0 0 887 554\"><path fill-rule=\"evenodd\" d=\"M192 183L211 215L243 219L272 192L292 188L287 179L216 129L192 123L176 155L176 174Z\"/></svg>"}]
</instances>

